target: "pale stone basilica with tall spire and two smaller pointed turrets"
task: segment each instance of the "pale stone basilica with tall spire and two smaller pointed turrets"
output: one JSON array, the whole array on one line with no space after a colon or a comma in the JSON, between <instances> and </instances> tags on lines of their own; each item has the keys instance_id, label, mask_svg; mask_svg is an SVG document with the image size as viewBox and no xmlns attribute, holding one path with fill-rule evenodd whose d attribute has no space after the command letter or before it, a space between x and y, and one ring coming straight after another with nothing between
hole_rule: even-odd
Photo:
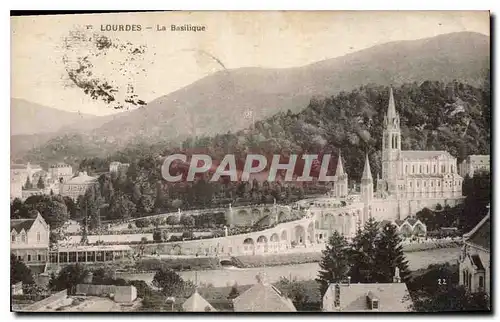
<instances>
[{"instance_id":1,"label":"pale stone basilica with tall spire and two smaller pointed turrets","mask_svg":"<svg viewBox=\"0 0 500 322\"><path fill-rule=\"evenodd\" d=\"M453 207L462 202L463 178L455 157L447 151L401 149L400 117L392 89L383 131L382 176L374 181L366 155L360 192L348 192L348 174L339 154L331 194L310 208L324 238L334 230L354 236L357 225L370 217L394 222L414 216L425 207Z\"/></svg>"}]
</instances>

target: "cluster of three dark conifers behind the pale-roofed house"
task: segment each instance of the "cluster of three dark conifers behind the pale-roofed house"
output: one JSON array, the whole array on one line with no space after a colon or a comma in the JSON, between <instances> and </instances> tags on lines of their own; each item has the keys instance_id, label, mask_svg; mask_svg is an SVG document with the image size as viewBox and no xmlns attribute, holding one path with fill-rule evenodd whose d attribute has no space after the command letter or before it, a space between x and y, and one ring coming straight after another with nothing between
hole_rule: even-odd
<instances>
[{"instance_id":1,"label":"cluster of three dark conifers behind the pale-roofed house","mask_svg":"<svg viewBox=\"0 0 500 322\"><path fill-rule=\"evenodd\" d=\"M391 283L396 268L402 281L409 275L396 227L380 224L370 218L359 228L351 242L334 232L322 251L320 271L316 281L323 295L331 283Z\"/></svg>"}]
</instances>

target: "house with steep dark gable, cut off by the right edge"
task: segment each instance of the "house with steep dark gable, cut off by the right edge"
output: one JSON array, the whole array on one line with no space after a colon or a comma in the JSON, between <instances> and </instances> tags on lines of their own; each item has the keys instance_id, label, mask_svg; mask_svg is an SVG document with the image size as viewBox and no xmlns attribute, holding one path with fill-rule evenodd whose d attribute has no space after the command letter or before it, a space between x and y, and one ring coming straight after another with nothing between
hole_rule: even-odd
<instances>
[{"instance_id":1,"label":"house with steep dark gable, cut off by the right edge","mask_svg":"<svg viewBox=\"0 0 500 322\"><path fill-rule=\"evenodd\" d=\"M463 237L459 258L459 284L470 292L490 295L490 212Z\"/></svg>"}]
</instances>

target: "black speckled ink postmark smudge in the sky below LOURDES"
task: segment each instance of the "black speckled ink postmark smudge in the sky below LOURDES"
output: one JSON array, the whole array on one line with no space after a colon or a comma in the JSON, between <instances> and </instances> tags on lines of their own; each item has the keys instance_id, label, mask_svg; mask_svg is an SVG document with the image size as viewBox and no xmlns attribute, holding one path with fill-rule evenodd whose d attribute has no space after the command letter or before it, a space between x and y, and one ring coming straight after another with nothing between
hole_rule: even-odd
<instances>
[{"instance_id":1,"label":"black speckled ink postmark smudge in the sky below LOURDES","mask_svg":"<svg viewBox=\"0 0 500 322\"><path fill-rule=\"evenodd\" d=\"M146 46L120 41L84 28L75 28L63 38L66 80L93 100L114 109L141 107L146 102L135 90L135 78L146 72Z\"/></svg>"}]
</instances>

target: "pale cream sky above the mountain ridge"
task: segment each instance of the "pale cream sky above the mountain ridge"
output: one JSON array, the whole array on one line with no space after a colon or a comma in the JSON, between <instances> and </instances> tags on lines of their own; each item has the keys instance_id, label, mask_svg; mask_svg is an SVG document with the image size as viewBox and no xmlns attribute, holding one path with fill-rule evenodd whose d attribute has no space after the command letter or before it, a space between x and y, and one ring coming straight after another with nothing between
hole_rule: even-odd
<instances>
[{"instance_id":1,"label":"pale cream sky above the mountain ridge","mask_svg":"<svg viewBox=\"0 0 500 322\"><path fill-rule=\"evenodd\" d=\"M68 77L78 58L88 56L93 77L105 79L124 99L132 86L148 102L223 68L288 68L346 55L397 40L451 32L489 35L485 11L423 12L155 12L11 18L11 97L86 114L116 113L93 100ZM101 31L101 25L136 24L141 31ZM205 31L170 31L170 25L205 26ZM92 29L87 29L87 26ZM166 31L156 31L157 25ZM146 27L152 29L146 29ZM98 52L71 42L75 31L105 35L113 44L145 48ZM72 33L73 32L73 33ZM127 48L128 48L127 47ZM132 48L130 47L130 48ZM130 58L134 59L131 60ZM66 63L64 63L66 61Z\"/></svg>"}]
</instances>

